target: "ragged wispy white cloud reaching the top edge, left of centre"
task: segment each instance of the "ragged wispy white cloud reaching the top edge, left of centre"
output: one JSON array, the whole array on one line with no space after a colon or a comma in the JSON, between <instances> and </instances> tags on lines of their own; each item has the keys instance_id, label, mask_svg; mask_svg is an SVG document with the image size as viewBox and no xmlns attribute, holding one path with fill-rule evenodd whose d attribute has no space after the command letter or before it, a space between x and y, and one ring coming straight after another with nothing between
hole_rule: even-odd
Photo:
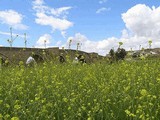
<instances>
[{"instance_id":1,"label":"ragged wispy white cloud reaching the top edge, left of centre","mask_svg":"<svg viewBox=\"0 0 160 120\"><path fill-rule=\"evenodd\" d=\"M59 30L64 36L65 31L73 26L73 23L67 20L67 14L72 7L50 8L46 6L43 0L33 2L35 10L35 22L40 25L51 26L52 30Z\"/></svg>"}]
</instances>

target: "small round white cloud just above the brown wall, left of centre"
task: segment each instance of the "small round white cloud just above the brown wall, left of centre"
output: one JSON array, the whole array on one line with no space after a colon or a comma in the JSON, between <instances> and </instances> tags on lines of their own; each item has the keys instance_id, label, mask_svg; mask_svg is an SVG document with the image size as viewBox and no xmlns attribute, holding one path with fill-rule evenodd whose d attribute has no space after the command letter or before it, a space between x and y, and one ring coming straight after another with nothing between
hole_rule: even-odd
<instances>
[{"instance_id":1,"label":"small round white cloud just above the brown wall, left of centre","mask_svg":"<svg viewBox=\"0 0 160 120\"><path fill-rule=\"evenodd\" d=\"M49 34L44 34L42 35L36 42L36 47L45 47L45 44L46 46L49 46L49 44L51 43L51 40L52 40L52 36L49 35Z\"/></svg>"}]
</instances>

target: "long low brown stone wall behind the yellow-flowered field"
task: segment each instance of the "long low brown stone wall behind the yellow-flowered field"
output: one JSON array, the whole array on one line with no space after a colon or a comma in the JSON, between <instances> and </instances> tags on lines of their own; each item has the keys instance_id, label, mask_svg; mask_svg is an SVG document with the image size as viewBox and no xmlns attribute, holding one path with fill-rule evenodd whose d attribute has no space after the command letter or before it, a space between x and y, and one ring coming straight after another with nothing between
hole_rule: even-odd
<instances>
[{"instance_id":1,"label":"long low brown stone wall behind the yellow-flowered field","mask_svg":"<svg viewBox=\"0 0 160 120\"><path fill-rule=\"evenodd\" d=\"M57 61L59 62L59 55L63 53L66 59L71 61L75 58L76 54L81 54L85 57L87 63L92 63L99 59L97 53L87 53L83 51L76 51L71 49L59 49L58 47L40 49L40 48L18 48L18 47L0 47L0 57L8 60L11 64L18 64L20 61L26 62L29 56L36 56L36 59L43 61Z\"/></svg>"}]
</instances>

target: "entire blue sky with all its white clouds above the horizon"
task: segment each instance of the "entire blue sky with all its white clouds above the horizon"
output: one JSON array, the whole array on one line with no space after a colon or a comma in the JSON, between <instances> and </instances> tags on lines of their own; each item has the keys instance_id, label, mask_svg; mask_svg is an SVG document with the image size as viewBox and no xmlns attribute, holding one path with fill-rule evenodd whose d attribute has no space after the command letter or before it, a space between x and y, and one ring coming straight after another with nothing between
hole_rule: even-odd
<instances>
[{"instance_id":1,"label":"entire blue sky with all its white clouds above the horizon","mask_svg":"<svg viewBox=\"0 0 160 120\"><path fill-rule=\"evenodd\" d=\"M126 49L159 43L159 0L0 0L0 45L71 48L106 54L118 42ZM155 32L153 32L155 31Z\"/></svg>"}]
</instances>

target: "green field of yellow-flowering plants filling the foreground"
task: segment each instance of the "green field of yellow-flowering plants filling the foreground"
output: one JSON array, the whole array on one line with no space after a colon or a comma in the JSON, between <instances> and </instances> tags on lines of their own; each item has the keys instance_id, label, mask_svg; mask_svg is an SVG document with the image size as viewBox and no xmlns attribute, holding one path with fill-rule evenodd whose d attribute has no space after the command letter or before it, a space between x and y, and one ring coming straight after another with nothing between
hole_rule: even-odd
<instances>
[{"instance_id":1,"label":"green field of yellow-flowering plants filling the foreground","mask_svg":"<svg viewBox=\"0 0 160 120\"><path fill-rule=\"evenodd\" d=\"M2 120L159 120L160 60L0 69Z\"/></svg>"}]
</instances>

